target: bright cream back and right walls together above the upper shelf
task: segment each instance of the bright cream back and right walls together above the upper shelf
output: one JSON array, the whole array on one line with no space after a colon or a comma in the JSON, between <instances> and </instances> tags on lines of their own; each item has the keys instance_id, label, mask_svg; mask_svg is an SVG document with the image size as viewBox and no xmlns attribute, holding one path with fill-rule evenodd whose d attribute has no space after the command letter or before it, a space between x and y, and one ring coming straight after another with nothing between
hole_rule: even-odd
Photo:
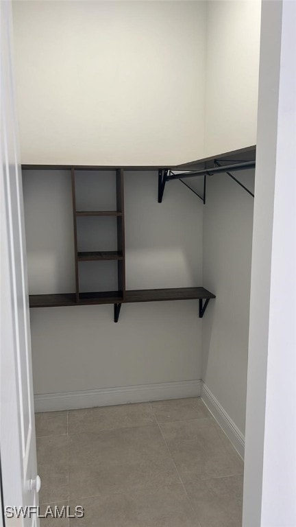
<instances>
[{"instance_id":1,"label":"bright cream back and right walls together above the upper shelf","mask_svg":"<svg viewBox=\"0 0 296 527\"><path fill-rule=\"evenodd\" d=\"M256 144L260 0L14 0L23 163L177 164Z\"/></svg>"}]
</instances>

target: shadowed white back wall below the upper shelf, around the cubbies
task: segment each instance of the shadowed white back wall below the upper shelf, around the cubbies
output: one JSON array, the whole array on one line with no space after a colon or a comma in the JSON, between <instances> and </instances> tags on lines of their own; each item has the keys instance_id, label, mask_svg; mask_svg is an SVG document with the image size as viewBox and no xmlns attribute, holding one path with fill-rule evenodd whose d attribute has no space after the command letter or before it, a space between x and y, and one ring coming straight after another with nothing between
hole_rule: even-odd
<instances>
[{"instance_id":1,"label":"shadowed white back wall below the upper shelf, around the cubbies","mask_svg":"<svg viewBox=\"0 0 296 527\"><path fill-rule=\"evenodd\" d=\"M53 178L48 171L23 176L34 293L75 288L73 246L59 242L67 238L73 244L71 176L68 181L66 176L57 172ZM156 172L125 173L127 288L200 285L203 205L177 181L168 185L162 204L157 189ZM118 324L112 305L31 309L34 391L200 379L201 324L197 301L123 305Z\"/></svg>"}]
</instances>

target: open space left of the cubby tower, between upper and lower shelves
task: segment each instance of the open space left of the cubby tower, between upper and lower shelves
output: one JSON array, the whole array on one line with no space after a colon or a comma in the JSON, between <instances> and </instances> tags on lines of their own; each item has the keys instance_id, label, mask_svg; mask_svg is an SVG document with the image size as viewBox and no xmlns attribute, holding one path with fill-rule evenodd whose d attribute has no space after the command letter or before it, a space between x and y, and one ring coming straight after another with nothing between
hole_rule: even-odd
<instances>
[{"instance_id":1,"label":"open space left of the cubby tower, between upper and lower shelves","mask_svg":"<svg viewBox=\"0 0 296 527\"><path fill-rule=\"evenodd\" d=\"M75 302L71 169L22 176L29 294L36 305L68 305Z\"/></svg>"}]
</instances>

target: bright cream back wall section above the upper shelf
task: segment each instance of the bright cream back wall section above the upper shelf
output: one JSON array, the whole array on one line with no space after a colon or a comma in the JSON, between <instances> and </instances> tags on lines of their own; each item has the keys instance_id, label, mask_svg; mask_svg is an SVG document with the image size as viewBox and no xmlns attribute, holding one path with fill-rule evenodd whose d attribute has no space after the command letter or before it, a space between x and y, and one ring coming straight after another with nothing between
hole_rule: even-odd
<instances>
[{"instance_id":1,"label":"bright cream back wall section above the upper shelf","mask_svg":"<svg viewBox=\"0 0 296 527\"><path fill-rule=\"evenodd\" d=\"M202 156L204 2L14 1L14 34L23 163Z\"/></svg>"}]
</instances>

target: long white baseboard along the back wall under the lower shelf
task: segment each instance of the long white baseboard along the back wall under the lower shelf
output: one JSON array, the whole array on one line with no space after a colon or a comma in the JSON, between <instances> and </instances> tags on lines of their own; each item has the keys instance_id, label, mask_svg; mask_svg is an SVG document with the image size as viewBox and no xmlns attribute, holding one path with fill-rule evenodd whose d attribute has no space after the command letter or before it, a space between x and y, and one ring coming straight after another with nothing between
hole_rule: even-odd
<instances>
[{"instance_id":1,"label":"long white baseboard along the back wall under the lower shelf","mask_svg":"<svg viewBox=\"0 0 296 527\"><path fill-rule=\"evenodd\" d=\"M199 397L201 381L163 382L160 384L140 384L138 386L119 386L98 388L80 392L43 393L35 395L35 412L73 410L92 406L112 404L143 403L164 399Z\"/></svg>"}]
</instances>

